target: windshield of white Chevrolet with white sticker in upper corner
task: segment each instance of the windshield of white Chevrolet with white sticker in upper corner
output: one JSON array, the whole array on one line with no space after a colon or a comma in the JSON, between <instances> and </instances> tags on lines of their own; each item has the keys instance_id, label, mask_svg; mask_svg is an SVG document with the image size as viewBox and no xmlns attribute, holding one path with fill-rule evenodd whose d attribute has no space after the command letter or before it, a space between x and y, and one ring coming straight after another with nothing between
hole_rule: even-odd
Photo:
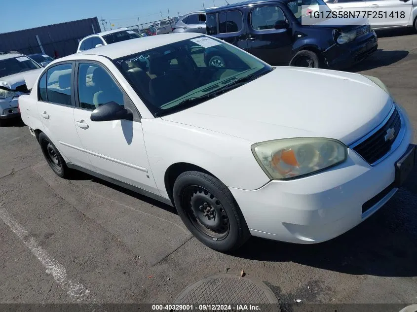
<instances>
[{"instance_id":1,"label":"windshield of white Chevrolet with white sticker in upper corner","mask_svg":"<svg viewBox=\"0 0 417 312\"><path fill-rule=\"evenodd\" d=\"M223 41L200 36L114 60L154 116L209 100L272 70Z\"/></svg>"}]
</instances>

